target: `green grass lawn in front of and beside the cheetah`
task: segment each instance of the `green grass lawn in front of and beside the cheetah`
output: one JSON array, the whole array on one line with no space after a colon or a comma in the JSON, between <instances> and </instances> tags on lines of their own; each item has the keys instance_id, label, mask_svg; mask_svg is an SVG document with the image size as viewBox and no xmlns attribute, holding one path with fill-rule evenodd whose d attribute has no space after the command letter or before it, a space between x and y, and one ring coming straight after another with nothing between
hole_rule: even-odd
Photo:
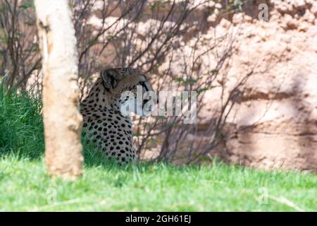
<instances>
[{"instance_id":1,"label":"green grass lawn in front of and beside the cheetah","mask_svg":"<svg viewBox=\"0 0 317 226\"><path fill-rule=\"evenodd\" d=\"M46 175L38 100L0 88L0 210L316 211L316 174L263 172L214 161L120 167L85 145L76 182Z\"/></svg>"}]
</instances>

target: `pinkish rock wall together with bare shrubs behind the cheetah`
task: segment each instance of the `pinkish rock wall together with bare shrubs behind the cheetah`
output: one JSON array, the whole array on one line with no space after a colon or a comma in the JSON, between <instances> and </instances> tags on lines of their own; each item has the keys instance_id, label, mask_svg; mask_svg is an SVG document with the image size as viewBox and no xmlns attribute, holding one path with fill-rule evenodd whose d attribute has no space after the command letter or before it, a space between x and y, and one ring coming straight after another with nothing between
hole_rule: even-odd
<instances>
[{"instance_id":1,"label":"pinkish rock wall together with bare shrubs behind the cheetah","mask_svg":"<svg viewBox=\"0 0 317 226\"><path fill-rule=\"evenodd\" d=\"M70 8L80 98L108 67L138 67L157 91L197 91L194 124L133 117L139 157L316 171L317 1L71 0ZM0 79L40 97L41 60L32 1L0 0Z\"/></svg>"}]
</instances>

